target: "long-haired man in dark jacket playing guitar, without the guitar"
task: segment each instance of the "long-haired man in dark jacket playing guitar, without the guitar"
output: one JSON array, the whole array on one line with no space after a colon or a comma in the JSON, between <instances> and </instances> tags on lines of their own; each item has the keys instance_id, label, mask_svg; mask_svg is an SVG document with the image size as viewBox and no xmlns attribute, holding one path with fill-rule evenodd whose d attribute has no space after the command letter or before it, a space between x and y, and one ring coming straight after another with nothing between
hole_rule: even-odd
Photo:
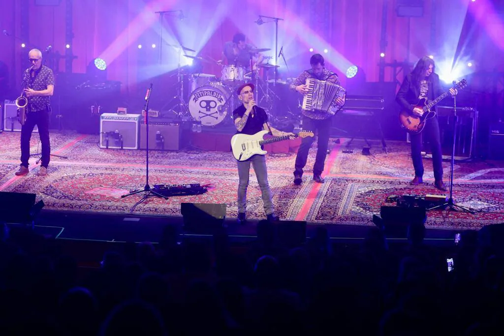
<instances>
[{"instance_id":1,"label":"long-haired man in dark jacket playing guitar, without the guitar","mask_svg":"<svg viewBox=\"0 0 504 336\"><path fill-rule=\"evenodd\" d=\"M404 78L401 88L397 92L396 101L402 109L409 111L413 116L422 117L426 113L415 105L419 99L427 98L427 101L431 101L443 93L439 76L434 73L434 70L435 64L431 58L427 56L420 58L411 74ZM455 96L457 90L450 89L450 94L452 97ZM415 168L415 177L410 184L423 183L422 133L425 134L431 146L434 186L439 190L446 191L447 187L443 182L443 157L437 116L425 120L422 132L410 133L411 159Z\"/></svg>"}]
</instances>

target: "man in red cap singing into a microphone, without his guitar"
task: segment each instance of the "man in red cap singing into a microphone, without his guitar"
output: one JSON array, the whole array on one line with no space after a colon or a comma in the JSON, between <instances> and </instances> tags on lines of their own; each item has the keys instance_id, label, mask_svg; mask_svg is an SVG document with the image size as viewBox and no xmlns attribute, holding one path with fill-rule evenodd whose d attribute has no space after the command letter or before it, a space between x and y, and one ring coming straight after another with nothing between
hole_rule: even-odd
<instances>
[{"instance_id":1,"label":"man in red cap singing into a microphone, without his guitar","mask_svg":"<svg viewBox=\"0 0 504 336\"><path fill-rule=\"evenodd\" d=\"M293 133L285 133L279 131L268 124L268 115L266 111L257 106L254 99L254 84L242 84L236 90L238 99L242 105L233 111L234 125L237 133L254 135L261 130L268 130L275 137L294 136ZM264 212L270 222L278 221L278 217L273 211L273 200L271 196L270 185L268 183L268 172L266 168L266 157L264 155L254 155L246 161L236 161L238 165L238 218L240 224L244 224L246 220L246 196L248 186L248 176L250 171L250 163L254 167L257 182L261 188L263 196Z\"/></svg>"}]
</instances>

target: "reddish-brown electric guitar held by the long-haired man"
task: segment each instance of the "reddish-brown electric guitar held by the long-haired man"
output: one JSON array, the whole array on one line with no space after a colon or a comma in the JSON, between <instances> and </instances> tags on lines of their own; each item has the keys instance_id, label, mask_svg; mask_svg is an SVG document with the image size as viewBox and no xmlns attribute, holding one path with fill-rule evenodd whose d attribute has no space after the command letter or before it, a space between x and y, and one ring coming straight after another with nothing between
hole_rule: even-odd
<instances>
[{"instance_id":1,"label":"reddish-brown electric guitar held by the long-haired man","mask_svg":"<svg viewBox=\"0 0 504 336\"><path fill-rule=\"evenodd\" d=\"M455 86L452 89L463 89L467 86L467 81L463 79L459 83L455 84ZM431 111L430 109L445 99L448 95L450 94L450 90L446 91L433 101L427 104L427 98L421 98L418 103L416 103L413 107L418 107L423 110L423 115L416 116L414 115L411 111L407 110L402 110L399 113L399 122L401 123L401 126L405 128L409 133L417 134L420 133L423 130L423 127L425 127L425 121L427 119L432 118L433 116L436 115L436 112Z\"/></svg>"}]
</instances>

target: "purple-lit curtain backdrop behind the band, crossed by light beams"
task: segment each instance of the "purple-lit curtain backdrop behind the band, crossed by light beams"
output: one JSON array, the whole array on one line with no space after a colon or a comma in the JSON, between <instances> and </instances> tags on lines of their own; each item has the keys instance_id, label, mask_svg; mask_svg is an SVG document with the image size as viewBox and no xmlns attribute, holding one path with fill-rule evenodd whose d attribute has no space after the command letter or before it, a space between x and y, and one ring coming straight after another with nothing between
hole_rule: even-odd
<instances>
[{"instance_id":1,"label":"purple-lit curtain backdrop behind the band, crossed by light beams","mask_svg":"<svg viewBox=\"0 0 504 336\"><path fill-rule=\"evenodd\" d=\"M380 43L384 3L387 5L385 50ZM366 74L367 81L377 81L381 51L386 54L386 62L403 61L408 54L412 62L426 54L433 54L435 60L453 58L460 49L459 37L466 14L479 16L476 24L483 21L478 8L471 6L484 8L485 13L488 8L497 13L492 3L500 1L424 0L416 2L422 5L422 16L412 19L397 15L397 6L402 3L405 1L3 0L0 61L4 67L0 69L4 70L0 76L7 76L4 81L17 92L22 71L27 67L28 49L45 50L50 45L51 53L72 52L77 56L72 66L72 71L77 73L84 73L95 57L103 58L108 64L108 79L120 81L122 91L128 93L154 76L173 71L179 64L187 64L188 58L183 53L220 59L223 43L236 32L246 34L248 42L259 48L270 48L265 55L271 56L273 63L275 22L264 18L263 24L257 24L259 15L263 15L283 19L278 21L278 49L283 46L289 69L279 58L283 77L296 77L299 71L309 67L309 56L320 52L327 59L327 67L343 78L348 66L356 64ZM72 4L73 40L67 49L69 4ZM169 10L182 12L162 16L155 13ZM22 23L26 18L28 29L24 32ZM476 70L502 70L502 57L491 56L502 54L502 46L496 45L494 38L501 32L501 19L497 15L490 26L476 25L464 33L468 36L463 36L463 42L472 41L464 52L470 50ZM493 38L485 35L488 31L493 31ZM22 48L21 43L27 46ZM196 51L183 50L180 45ZM65 71L64 59L52 65ZM203 72L220 75L217 64L205 62L202 65ZM392 69L387 68L385 75L386 81L395 80Z\"/></svg>"}]
</instances>

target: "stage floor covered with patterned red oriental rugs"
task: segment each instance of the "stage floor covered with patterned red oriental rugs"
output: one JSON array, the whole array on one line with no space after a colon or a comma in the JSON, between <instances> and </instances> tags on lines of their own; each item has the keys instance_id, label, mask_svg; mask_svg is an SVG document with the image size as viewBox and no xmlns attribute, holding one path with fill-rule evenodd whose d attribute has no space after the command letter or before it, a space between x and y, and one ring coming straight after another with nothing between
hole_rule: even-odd
<instances>
[{"instance_id":1,"label":"stage floor covered with patterned red oriental rugs","mask_svg":"<svg viewBox=\"0 0 504 336\"><path fill-rule=\"evenodd\" d=\"M372 215L390 195L448 194L433 186L431 161L424 159L426 183L412 187L413 167L409 145L387 142L383 153L379 142L371 142L371 155L361 155L362 142L352 143L353 153L343 153L341 144L332 139L331 152L323 176L326 183L311 181L311 167L316 148L310 151L303 183L292 183L295 153L268 154L268 173L276 213L283 220L304 220L309 224L372 226ZM141 195L121 198L130 190L145 185L145 151L100 149L98 136L75 132L51 132L52 154L49 174L38 177L38 157L30 161L30 173L18 177L19 132L0 134L0 191L36 193L46 210L129 214ZM314 145L315 147L315 145ZM40 149L38 134L31 140L31 153ZM176 196L163 200L149 197L133 214L181 216L180 204L226 203L227 218L236 217L236 163L230 152L198 150L151 151L149 184L212 184L208 192L194 196ZM449 181L450 162L443 163L445 182ZM427 227L440 229L480 228L504 222L504 161L456 162L454 200L470 207L476 214L448 210L428 213ZM247 216L265 218L261 192L251 172L247 197Z\"/></svg>"}]
</instances>

